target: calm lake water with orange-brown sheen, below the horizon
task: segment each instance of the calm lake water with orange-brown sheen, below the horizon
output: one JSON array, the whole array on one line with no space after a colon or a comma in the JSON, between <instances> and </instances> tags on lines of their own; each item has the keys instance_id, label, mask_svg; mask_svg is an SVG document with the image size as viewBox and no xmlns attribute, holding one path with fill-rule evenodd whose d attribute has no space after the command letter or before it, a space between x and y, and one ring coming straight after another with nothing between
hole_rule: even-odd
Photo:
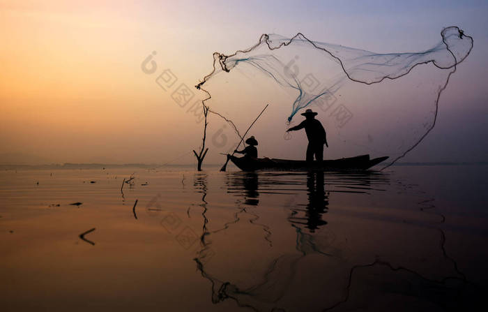
<instances>
[{"instance_id":1,"label":"calm lake water with orange-brown sheen, below the horizon","mask_svg":"<svg viewBox=\"0 0 488 312\"><path fill-rule=\"evenodd\" d=\"M487 177L3 171L0 309L468 309L488 285Z\"/></svg>"}]
</instances>

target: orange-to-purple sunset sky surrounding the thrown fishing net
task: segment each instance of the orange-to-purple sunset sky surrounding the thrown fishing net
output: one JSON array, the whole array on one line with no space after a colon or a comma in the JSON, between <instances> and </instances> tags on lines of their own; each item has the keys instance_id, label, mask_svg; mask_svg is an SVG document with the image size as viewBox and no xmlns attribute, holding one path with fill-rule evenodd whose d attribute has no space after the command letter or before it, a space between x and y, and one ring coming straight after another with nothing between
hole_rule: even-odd
<instances>
[{"instance_id":1,"label":"orange-to-purple sunset sky surrounding the thrown fishing net","mask_svg":"<svg viewBox=\"0 0 488 312\"><path fill-rule=\"evenodd\" d=\"M486 161L487 16L487 1L0 1L0 163L20 154L33 163L192 163L202 124L187 111L204 96L193 86L213 52L298 31L374 52L420 51L451 25L473 36L473 52L442 95L436 128L404 161ZM153 51L157 71L143 73ZM165 69L178 79L166 91L155 82ZM171 98L181 82L195 93L185 107ZM228 117L244 132L262 107ZM281 116L265 120L284 130ZM236 141L223 128L226 144L213 146L219 127L210 121L206 163L222 163ZM264 138L262 156L304 153L280 155Z\"/></svg>"}]
</instances>

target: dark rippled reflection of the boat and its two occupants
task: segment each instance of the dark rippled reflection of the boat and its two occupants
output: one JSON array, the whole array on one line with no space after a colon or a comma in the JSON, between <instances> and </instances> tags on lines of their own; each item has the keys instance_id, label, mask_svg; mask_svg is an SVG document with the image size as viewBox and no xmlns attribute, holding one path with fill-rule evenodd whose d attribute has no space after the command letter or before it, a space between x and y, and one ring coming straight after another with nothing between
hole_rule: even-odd
<instances>
[{"instance_id":1,"label":"dark rippled reflection of the boat and its two occupants","mask_svg":"<svg viewBox=\"0 0 488 312\"><path fill-rule=\"evenodd\" d=\"M292 195L287 206L291 210L288 221L313 233L327 224L324 214L329 209L330 193L369 193L384 191L390 184L388 174L361 172L232 172L227 175L227 193L239 204L258 206L259 194ZM297 202L303 193L306 202Z\"/></svg>"}]
</instances>

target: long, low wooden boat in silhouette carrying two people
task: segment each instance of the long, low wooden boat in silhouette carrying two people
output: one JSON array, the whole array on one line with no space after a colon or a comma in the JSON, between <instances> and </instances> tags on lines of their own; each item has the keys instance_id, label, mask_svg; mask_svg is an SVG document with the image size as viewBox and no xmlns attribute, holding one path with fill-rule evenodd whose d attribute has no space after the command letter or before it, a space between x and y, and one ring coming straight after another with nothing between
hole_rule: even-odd
<instances>
[{"instance_id":1,"label":"long, low wooden boat in silhouette carrying two people","mask_svg":"<svg viewBox=\"0 0 488 312\"><path fill-rule=\"evenodd\" d=\"M314 161L307 164L306 161L291 161L277 158L250 158L228 155L232 163L243 171L254 170L367 170L374 165L385 161L388 156L369 159L369 155L360 155L349 158L339 158L322 161L321 164Z\"/></svg>"}]
</instances>

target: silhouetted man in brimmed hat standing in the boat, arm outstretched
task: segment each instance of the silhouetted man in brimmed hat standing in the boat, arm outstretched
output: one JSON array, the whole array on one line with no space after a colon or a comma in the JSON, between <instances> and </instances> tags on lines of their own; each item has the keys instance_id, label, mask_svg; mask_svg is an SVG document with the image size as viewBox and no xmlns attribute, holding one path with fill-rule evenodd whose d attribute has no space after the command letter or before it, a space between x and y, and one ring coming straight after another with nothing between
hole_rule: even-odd
<instances>
[{"instance_id":1,"label":"silhouetted man in brimmed hat standing in the boat, arm outstretched","mask_svg":"<svg viewBox=\"0 0 488 312\"><path fill-rule=\"evenodd\" d=\"M291 127L287 130L296 131L305 128L305 133L307 133L308 147L307 147L307 162L310 163L317 159L318 162L323 161L323 144L329 147L327 144L326 131L323 128L320 121L315 119L317 112L312 112L308 109L303 114L307 119L302 121L298 126Z\"/></svg>"}]
</instances>

